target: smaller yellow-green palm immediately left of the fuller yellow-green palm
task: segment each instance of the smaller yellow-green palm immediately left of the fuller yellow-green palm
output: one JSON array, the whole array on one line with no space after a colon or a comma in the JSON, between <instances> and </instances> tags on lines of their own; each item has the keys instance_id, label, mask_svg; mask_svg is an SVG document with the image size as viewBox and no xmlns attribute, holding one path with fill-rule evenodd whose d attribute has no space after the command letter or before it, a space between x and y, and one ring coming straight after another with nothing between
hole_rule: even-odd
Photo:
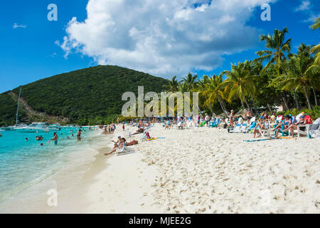
<instances>
[{"instance_id":1,"label":"smaller yellow-green palm immediately left of the fuller yellow-green palm","mask_svg":"<svg viewBox=\"0 0 320 228\"><path fill-rule=\"evenodd\" d=\"M223 88L221 88L221 83L223 83L223 76L213 76L212 78L208 78L208 81L204 83L203 87L201 87L201 94L206 98L205 105L210 106L211 104L218 101L220 103L221 109L225 115L228 115L228 111L225 108L223 103L223 99L225 98L225 93Z\"/></svg>"}]
</instances>

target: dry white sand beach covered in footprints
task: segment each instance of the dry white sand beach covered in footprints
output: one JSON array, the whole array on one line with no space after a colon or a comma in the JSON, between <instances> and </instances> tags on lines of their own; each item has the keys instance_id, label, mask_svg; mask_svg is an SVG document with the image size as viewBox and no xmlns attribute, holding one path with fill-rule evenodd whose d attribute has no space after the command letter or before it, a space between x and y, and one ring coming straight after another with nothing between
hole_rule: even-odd
<instances>
[{"instance_id":1,"label":"dry white sand beach covered in footprints","mask_svg":"<svg viewBox=\"0 0 320 228\"><path fill-rule=\"evenodd\" d=\"M127 127L112 136L135 130ZM86 206L68 212L320 212L320 140L242 142L252 135L164 130L159 124L150 134L165 139L139 141L128 155L100 152L100 170L78 197Z\"/></svg>"}]
</instances>

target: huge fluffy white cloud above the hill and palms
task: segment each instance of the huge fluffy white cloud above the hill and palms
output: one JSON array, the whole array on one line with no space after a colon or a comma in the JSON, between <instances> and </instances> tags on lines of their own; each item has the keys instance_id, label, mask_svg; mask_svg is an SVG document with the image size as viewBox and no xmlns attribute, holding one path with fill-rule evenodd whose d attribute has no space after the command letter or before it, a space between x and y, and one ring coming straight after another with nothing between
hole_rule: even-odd
<instances>
[{"instance_id":1,"label":"huge fluffy white cloud above the hill and palms","mask_svg":"<svg viewBox=\"0 0 320 228\"><path fill-rule=\"evenodd\" d=\"M65 57L81 53L156 76L210 71L222 65L223 55L259 42L260 31L245 21L253 8L272 1L89 0L87 19L71 19L56 44Z\"/></svg>"}]
</instances>

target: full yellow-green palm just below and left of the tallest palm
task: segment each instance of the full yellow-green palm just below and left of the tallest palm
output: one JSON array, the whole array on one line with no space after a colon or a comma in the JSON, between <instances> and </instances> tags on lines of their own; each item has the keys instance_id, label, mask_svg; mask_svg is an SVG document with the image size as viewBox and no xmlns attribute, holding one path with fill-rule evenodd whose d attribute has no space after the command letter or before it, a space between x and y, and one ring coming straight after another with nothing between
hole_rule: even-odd
<instances>
[{"instance_id":1,"label":"full yellow-green palm just below and left of the tallest palm","mask_svg":"<svg viewBox=\"0 0 320 228\"><path fill-rule=\"evenodd\" d=\"M223 71L222 75L227 76L220 86L225 88L225 92L229 92L228 102L231 102L232 98L237 95L241 100L242 108L245 109L245 103L251 110L246 97L255 93L254 81L257 76L251 75L247 69L247 63L238 63L238 66L231 64L231 71Z\"/></svg>"}]
</instances>

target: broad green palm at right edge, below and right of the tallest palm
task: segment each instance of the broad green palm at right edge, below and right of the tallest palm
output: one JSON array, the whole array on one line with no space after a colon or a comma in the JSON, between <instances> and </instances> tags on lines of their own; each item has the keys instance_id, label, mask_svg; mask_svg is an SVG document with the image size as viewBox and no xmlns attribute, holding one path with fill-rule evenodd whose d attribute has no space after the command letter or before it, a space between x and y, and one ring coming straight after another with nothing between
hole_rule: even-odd
<instances>
[{"instance_id":1,"label":"broad green palm at right edge, below and right of the tallest palm","mask_svg":"<svg viewBox=\"0 0 320 228\"><path fill-rule=\"evenodd\" d=\"M316 88L320 87L320 78L315 76L316 73L319 73L320 66L310 69L309 67L312 63L312 58L302 53L291 56L290 59L285 62L288 73L275 78L284 90L303 90L309 109L312 108L312 105L309 99L308 88L311 84Z\"/></svg>"}]
</instances>

